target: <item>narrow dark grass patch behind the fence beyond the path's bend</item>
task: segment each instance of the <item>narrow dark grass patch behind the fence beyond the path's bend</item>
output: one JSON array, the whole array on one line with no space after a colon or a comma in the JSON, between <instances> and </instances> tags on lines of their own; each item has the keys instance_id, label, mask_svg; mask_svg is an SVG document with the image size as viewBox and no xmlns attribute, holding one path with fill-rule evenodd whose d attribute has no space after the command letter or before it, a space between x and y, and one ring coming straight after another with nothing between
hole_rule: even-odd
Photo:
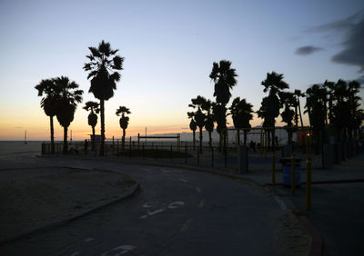
<instances>
[{"instance_id":1,"label":"narrow dark grass patch behind the fence beyond the path's bend","mask_svg":"<svg viewBox=\"0 0 364 256\"><path fill-rule=\"evenodd\" d=\"M177 152L177 151L170 151L170 150L162 150L162 149L142 149L132 150L132 151L124 151L118 153L120 156L129 156L129 157L148 157L148 158L185 158L185 157L192 157L189 153L184 152Z\"/></svg>"}]
</instances>

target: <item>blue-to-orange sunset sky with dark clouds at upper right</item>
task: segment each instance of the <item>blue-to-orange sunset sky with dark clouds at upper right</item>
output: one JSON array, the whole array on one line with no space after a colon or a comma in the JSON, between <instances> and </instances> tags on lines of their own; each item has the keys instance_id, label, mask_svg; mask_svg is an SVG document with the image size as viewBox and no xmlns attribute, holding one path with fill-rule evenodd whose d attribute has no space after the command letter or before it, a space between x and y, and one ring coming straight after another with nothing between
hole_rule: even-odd
<instances>
[{"instance_id":1,"label":"blue-to-orange sunset sky with dark clouds at upper right","mask_svg":"<svg viewBox=\"0 0 364 256\"><path fill-rule=\"evenodd\" d=\"M83 65L88 46L101 40L125 57L106 102L107 138L122 135L120 105L131 111L126 136L146 127L149 134L188 132L188 103L197 95L214 100L208 74L222 59L238 74L230 103L246 98L255 111L272 71L284 74L290 91L327 79L364 83L363 1L0 0L0 34L0 140L22 140L25 130L28 140L49 139L34 87L61 75L85 91L69 129L74 139L88 138L82 106L96 99ZM62 140L56 120L55 130Z\"/></svg>"}]
</instances>

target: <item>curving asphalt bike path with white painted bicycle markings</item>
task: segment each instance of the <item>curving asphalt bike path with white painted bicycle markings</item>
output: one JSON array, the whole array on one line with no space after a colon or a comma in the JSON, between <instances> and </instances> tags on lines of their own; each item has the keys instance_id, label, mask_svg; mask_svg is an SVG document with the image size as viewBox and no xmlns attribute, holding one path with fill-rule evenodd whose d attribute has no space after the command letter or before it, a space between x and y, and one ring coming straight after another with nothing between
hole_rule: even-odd
<instances>
[{"instance_id":1,"label":"curving asphalt bike path with white painted bicycle markings","mask_svg":"<svg viewBox=\"0 0 364 256\"><path fill-rule=\"evenodd\" d=\"M3 155L4 156L4 155ZM3 166L112 170L141 184L132 198L65 226L5 244L4 255L273 255L284 211L249 182L204 172L122 162L39 158L24 153ZM19 162L21 160L21 162Z\"/></svg>"}]
</instances>

